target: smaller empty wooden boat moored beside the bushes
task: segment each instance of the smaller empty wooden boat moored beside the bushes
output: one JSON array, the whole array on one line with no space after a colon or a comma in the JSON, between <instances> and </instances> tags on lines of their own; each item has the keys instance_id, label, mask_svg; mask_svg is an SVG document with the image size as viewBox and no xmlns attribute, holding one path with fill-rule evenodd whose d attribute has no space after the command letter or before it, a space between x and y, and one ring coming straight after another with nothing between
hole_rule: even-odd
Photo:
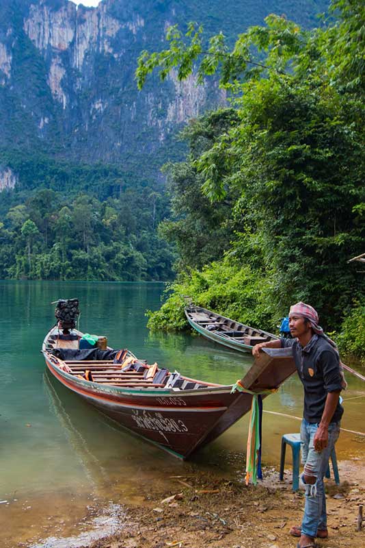
<instances>
[{"instance_id":1,"label":"smaller empty wooden boat moored beside the bushes","mask_svg":"<svg viewBox=\"0 0 365 548\"><path fill-rule=\"evenodd\" d=\"M276 335L230 320L206 310L201 306L189 305L185 308L187 321L200 335L213 340L214 343L224 345L241 352L250 352L252 347L267 340L278 339Z\"/></svg>"}]
</instances>

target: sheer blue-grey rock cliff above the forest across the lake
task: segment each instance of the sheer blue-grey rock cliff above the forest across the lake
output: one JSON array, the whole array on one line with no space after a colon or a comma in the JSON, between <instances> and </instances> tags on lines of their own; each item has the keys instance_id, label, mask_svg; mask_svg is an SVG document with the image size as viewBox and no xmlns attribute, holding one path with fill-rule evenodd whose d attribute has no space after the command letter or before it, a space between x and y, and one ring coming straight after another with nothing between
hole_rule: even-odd
<instances>
[{"instance_id":1,"label":"sheer blue-grey rock cliff above the forest across the lake","mask_svg":"<svg viewBox=\"0 0 365 548\"><path fill-rule=\"evenodd\" d=\"M303 14L310 25L316 11ZM182 123L223 104L214 86L176 75L137 91L143 49L163 47L167 26L206 23L236 36L273 11L293 13L299 0L103 0L97 8L69 0L2 0L0 149L42 151L85 162L122 162L156 172ZM196 11L199 10L199 11ZM173 145L176 147L176 145Z\"/></svg>"}]
</instances>

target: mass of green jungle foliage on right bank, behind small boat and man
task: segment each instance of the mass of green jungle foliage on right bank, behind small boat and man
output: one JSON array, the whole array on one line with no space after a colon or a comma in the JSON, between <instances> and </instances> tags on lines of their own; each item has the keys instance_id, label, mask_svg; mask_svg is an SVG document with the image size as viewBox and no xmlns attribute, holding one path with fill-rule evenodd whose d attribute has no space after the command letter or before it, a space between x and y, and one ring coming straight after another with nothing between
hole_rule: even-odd
<instances>
[{"instance_id":1,"label":"mass of green jungle foliage on right bank, behind small boat and man","mask_svg":"<svg viewBox=\"0 0 365 548\"><path fill-rule=\"evenodd\" d=\"M168 49L144 51L137 82L174 68L184 79L219 74L232 109L191 122L189 155L168 166L178 279L152 328L185 327L184 295L206 308L273 329L291 303L312 304L342 348L364 329L364 33L359 0L334 0L328 21L305 31L270 15L229 49L189 25ZM363 327L361 327L363 326ZM351 342L352 341L352 342Z\"/></svg>"}]
</instances>

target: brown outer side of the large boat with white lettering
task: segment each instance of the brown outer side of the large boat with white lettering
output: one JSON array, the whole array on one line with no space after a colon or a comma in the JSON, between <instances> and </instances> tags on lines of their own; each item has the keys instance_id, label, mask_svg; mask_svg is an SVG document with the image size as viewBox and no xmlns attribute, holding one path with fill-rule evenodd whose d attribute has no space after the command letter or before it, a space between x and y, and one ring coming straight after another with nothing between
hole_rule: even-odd
<instances>
[{"instance_id":1,"label":"brown outer side of the large boat with white lettering","mask_svg":"<svg viewBox=\"0 0 365 548\"><path fill-rule=\"evenodd\" d=\"M184 390L135 390L103 386L60 371L46 357L52 375L66 388L133 434L179 458L220 436L251 408L252 395L231 394L231 386Z\"/></svg>"}]
</instances>

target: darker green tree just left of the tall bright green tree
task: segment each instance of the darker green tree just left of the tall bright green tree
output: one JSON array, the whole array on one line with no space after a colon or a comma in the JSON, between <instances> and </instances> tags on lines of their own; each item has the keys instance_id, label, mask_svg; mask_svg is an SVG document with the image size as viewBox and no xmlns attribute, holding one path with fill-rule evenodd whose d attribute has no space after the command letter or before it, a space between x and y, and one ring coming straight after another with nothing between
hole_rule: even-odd
<instances>
[{"instance_id":1,"label":"darker green tree just left of the tall bright green tree","mask_svg":"<svg viewBox=\"0 0 365 548\"><path fill-rule=\"evenodd\" d=\"M234 229L239 228L232 215L236 198L232 187L224 200L212 203L203 193L205 179L197 164L200 156L222 135L227 135L238 121L238 113L232 108L219 109L192 120L181 134L189 144L187 161L164 166L172 218L163 221L159 231L177 246L178 270L202 268L220 258L230 247ZM225 162L222 154L221 159ZM225 166L220 167L223 172Z\"/></svg>"}]
</instances>

